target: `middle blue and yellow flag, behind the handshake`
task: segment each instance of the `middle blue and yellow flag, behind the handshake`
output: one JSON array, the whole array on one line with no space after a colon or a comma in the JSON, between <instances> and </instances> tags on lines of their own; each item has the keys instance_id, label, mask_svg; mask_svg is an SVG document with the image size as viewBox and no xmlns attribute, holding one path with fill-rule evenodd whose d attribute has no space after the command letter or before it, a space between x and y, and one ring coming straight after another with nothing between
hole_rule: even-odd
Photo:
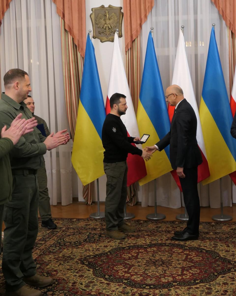
<instances>
[{"instance_id":1,"label":"middle blue and yellow flag, behind the handshake","mask_svg":"<svg viewBox=\"0 0 236 296\"><path fill-rule=\"evenodd\" d=\"M137 122L140 136L144 133L150 135L145 146L152 146L170 131L170 120L151 33L147 41ZM170 147L167 146L161 152L155 152L151 160L146 162L146 169L147 176L139 180L140 185L170 172L172 170Z\"/></svg>"}]
</instances>

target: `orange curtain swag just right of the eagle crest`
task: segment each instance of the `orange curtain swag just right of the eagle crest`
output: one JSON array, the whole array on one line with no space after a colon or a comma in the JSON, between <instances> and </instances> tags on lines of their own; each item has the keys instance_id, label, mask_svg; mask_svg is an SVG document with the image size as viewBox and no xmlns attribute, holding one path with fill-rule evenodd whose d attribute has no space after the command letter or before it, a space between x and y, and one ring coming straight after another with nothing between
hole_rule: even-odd
<instances>
[{"instance_id":1,"label":"orange curtain swag just right of the eagle crest","mask_svg":"<svg viewBox=\"0 0 236 296\"><path fill-rule=\"evenodd\" d=\"M153 6L154 0L124 0L125 52L139 36L142 25Z\"/></svg>"}]
</instances>

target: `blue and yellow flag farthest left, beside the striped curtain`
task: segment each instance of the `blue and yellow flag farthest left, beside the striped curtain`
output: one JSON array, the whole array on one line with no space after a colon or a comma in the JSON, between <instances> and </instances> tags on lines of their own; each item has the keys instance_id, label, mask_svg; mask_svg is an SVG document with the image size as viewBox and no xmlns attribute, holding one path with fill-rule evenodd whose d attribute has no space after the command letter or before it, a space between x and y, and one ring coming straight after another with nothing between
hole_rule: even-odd
<instances>
[{"instance_id":1,"label":"blue and yellow flag farthest left, beside the striped curtain","mask_svg":"<svg viewBox=\"0 0 236 296\"><path fill-rule=\"evenodd\" d=\"M87 37L71 162L83 185L104 174L102 125L105 120L94 47Z\"/></svg>"}]
</instances>

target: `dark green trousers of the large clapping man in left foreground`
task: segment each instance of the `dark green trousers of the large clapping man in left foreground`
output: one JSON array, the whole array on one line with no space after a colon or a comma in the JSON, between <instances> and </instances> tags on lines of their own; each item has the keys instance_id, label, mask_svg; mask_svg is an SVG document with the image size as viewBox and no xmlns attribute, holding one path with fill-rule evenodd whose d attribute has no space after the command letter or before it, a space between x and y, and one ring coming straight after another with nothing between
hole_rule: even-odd
<instances>
[{"instance_id":1,"label":"dark green trousers of the large clapping man in left foreground","mask_svg":"<svg viewBox=\"0 0 236 296\"><path fill-rule=\"evenodd\" d=\"M2 271L6 291L25 285L23 277L36 274L32 249L38 234L37 175L13 175L12 200L4 207Z\"/></svg>"}]
</instances>

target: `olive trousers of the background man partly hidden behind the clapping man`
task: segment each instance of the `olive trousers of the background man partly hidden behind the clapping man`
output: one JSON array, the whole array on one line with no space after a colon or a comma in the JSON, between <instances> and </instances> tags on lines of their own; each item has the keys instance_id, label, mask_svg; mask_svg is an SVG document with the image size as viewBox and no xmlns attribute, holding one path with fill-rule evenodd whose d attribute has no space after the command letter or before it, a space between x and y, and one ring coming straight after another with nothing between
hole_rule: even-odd
<instances>
[{"instance_id":1,"label":"olive trousers of the background man partly hidden behind the clapping man","mask_svg":"<svg viewBox=\"0 0 236 296\"><path fill-rule=\"evenodd\" d=\"M52 218L51 207L50 207L50 197L48 195L48 178L44 166L40 168L37 172L38 178L38 189L39 189L39 202L38 202L38 210L39 215L42 221L46 221Z\"/></svg>"}]
</instances>

